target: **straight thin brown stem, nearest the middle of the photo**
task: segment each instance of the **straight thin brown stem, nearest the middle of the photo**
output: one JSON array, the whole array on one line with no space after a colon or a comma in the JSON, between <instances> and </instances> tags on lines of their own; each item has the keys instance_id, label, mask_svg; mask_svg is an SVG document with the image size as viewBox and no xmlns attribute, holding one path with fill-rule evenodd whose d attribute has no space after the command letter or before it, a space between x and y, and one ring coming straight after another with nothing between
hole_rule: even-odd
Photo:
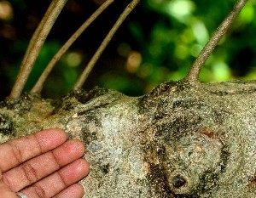
<instances>
[{"instance_id":1,"label":"straight thin brown stem, nearest the middle of the photo","mask_svg":"<svg viewBox=\"0 0 256 198\"><path fill-rule=\"evenodd\" d=\"M129 3L128 6L125 8L123 13L119 16L119 19L115 22L112 29L108 32L108 35L104 38L101 46L96 50L96 53L90 59L88 65L84 68L84 71L82 72L81 76L79 76L78 81L74 84L73 90L79 90L82 88L85 80L90 74L90 71L93 69L94 65L96 65L96 61L100 58L102 52L107 47L114 33L118 30L119 26L124 22L126 17L131 13L133 8L137 6L137 3L139 3L139 1L140 0L132 0L131 3Z\"/></svg>"}]
</instances>

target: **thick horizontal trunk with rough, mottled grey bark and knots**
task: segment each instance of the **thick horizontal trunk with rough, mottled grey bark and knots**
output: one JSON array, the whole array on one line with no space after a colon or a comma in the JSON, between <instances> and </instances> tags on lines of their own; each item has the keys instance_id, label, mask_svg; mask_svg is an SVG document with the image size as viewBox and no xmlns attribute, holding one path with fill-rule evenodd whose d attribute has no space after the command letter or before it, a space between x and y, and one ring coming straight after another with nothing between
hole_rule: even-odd
<instances>
[{"instance_id":1,"label":"thick horizontal trunk with rough, mottled grey bark and knots","mask_svg":"<svg viewBox=\"0 0 256 198\"><path fill-rule=\"evenodd\" d=\"M1 142L61 127L81 139L84 197L255 197L256 82L166 82L142 97L95 88L0 104Z\"/></svg>"}]
</instances>

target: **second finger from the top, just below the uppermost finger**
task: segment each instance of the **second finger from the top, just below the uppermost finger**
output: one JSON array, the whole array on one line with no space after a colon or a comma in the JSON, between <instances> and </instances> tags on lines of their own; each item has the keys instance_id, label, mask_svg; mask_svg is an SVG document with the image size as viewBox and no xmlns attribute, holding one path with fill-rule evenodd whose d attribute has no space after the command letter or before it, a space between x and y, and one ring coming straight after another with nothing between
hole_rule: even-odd
<instances>
[{"instance_id":1,"label":"second finger from the top, just below the uppermost finger","mask_svg":"<svg viewBox=\"0 0 256 198\"><path fill-rule=\"evenodd\" d=\"M69 140L55 150L32 158L29 161L3 173L3 181L11 190L19 191L41 178L54 173L61 167L84 155L84 144L79 140Z\"/></svg>"}]
</instances>

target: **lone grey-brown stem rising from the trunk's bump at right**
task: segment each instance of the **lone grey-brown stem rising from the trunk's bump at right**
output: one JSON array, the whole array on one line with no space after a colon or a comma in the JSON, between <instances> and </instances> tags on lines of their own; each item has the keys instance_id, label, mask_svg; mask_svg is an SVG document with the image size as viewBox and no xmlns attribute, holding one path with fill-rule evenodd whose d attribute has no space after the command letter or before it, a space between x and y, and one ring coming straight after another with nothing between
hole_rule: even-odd
<instances>
[{"instance_id":1,"label":"lone grey-brown stem rising from the trunk's bump at right","mask_svg":"<svg viewBox=\"0 0 256 198\"><path fill-rule=\"evenodd\" d=\"M230 14L224 19L224 21L218 26L213 36L207 42L206 46L201 50L201 53L195 59L194 64L191 66L188 75L184 78L185 81L200 82L199 74L202 67L205 65L208 57L212 54L214 48L218 45L218 42L224 37L224 34L229 30L230 25L236 19L236 16L240 13L241 8L247 3L247 0L238 0Z\"/></svg>"}]
</instances>

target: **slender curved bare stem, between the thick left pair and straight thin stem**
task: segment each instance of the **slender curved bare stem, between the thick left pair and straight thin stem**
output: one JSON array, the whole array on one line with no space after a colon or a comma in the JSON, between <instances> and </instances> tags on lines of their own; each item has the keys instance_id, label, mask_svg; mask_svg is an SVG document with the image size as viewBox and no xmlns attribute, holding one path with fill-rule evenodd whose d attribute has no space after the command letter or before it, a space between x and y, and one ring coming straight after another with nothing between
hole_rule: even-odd
<instances>
[{"instance_id":1,"label":"slender curved bare stem, between the thick left pair and straight thin stem","mask_svg":"<svg viewBox=\"0 0 256 198\"><path fill-rule=\"evenodd\" d=\"M61 49L55 54L54 58L50 60L49 65L46 66L44 69L44 72L41 74L41 76L38 79L38 82L34 85L30 93L40 93L44 87L44 82L49 76L49 72L52 71L55 64L59 59L61 59L61 56L67 52L67 49L70 48L70 46L77 40L77 38L85 31L85 29L94 21L96 18L102 14L102 12L108 8L108 6L113 3L114 0L107 0L105 3L100 6L94 14L90 15L90 18L84 22L83 25L79 27L77 31L73 33L73 36L70 37L67 42L61 47Z\"/></svg>"}]
</instances>

